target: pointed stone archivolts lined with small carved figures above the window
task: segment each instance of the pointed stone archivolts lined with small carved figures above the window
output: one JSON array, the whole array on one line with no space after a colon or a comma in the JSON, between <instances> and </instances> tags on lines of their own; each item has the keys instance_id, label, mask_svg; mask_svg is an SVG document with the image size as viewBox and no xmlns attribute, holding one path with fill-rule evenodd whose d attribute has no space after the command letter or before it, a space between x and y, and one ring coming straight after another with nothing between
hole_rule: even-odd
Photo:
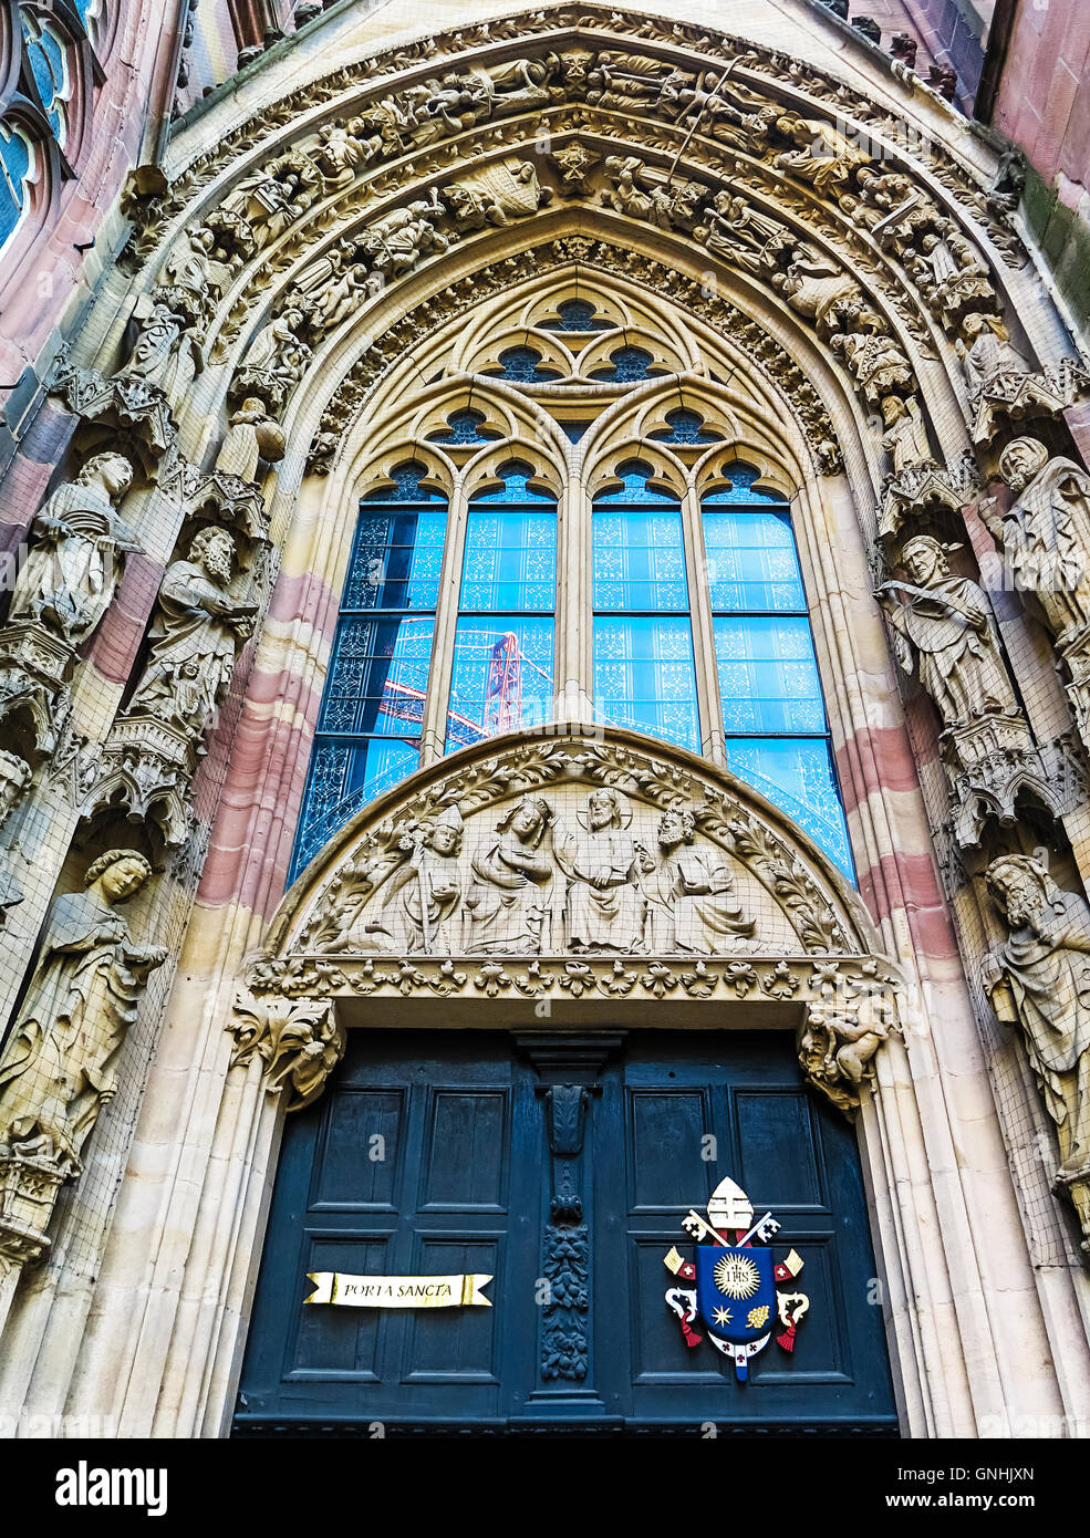
<instances>
[{"instance_id":1,"label":"pointed stone archivolts lined with small carved figures above the window","mask_svg":"<svg viewBox=\"0 0 1090 1538\"><path fill-rule=\"evenodd\" d=\"M918 484L933 498L935 475L964 500L955 466L970 441L1059 411L1082 386L1059 334L1019 341L1038 360L1012 345L1029 280L1010 198L939 143L910 154L904 126L844 82L703 28L518 14L341 65L228 128L172 180L137 177L129 260L154 285L149 323L161 329L172 306L197 317L228 412L260 401L291 435L292 397L307 398L295 448L323 472L375 374L480 298L478 281L513 281L512 251L533 261L550 223L563 238L558 214L584 232L609 226L621 249L638 228L644 245L687 252L683 283L700 289L703 265L712 292L696 297L721 306L713 323L755 325L716 301L726 269L812 338L859 418L881 414L899 524ZM595 254L586 235L573 246ZM649 286L670 283L669 260L666 277L646 266ZM784 372L821 468L838 469L806 371L795 378L789 354L781 368L783 343L758 331L750 351Z\"/></svg>"}]
</instances>

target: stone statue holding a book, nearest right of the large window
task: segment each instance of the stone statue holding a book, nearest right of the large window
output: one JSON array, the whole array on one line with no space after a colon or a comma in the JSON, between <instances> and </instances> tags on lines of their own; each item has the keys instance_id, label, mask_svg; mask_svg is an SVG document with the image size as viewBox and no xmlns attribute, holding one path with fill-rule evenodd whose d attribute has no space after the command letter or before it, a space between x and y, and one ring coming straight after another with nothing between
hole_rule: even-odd
<instances>
[{"instance_id":1,"label":"stone statue holding a book, nearest right of the large window","mask_svg":"<svg viewBox=\"0 0 1090 1538\"><path fill-rule=\"evenodd\" d=\"M893 626L896 657L935 701L944 726L1021 711L1007 675L992 608L981 588L950 571L947 546L918 535L904 546L909 581L879 589Z\"/></svg>"}]
</instances>

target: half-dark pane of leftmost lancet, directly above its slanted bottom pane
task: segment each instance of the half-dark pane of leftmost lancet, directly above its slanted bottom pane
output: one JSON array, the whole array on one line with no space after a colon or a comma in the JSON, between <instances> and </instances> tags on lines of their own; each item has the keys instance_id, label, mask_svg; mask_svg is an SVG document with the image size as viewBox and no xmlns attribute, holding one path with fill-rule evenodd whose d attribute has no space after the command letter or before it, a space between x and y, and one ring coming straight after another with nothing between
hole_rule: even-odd
<instances>
[{"instance_id":1,"label":"half-dark pane of leftmost lancet, directly above its slanted bottom pane","mask_svg":"<svg viewBox=\"0 0 1090 1538\"><path fill-rule=\"evenodd\" d=\"M417 737L435 621L341 620L318 731Z\"/></svg>"}]
</instances>

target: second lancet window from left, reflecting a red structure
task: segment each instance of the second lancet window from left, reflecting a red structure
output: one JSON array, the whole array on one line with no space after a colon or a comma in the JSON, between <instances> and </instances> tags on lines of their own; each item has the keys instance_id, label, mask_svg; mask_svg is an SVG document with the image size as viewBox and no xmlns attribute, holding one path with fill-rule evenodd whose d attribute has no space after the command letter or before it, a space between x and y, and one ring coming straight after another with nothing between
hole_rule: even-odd
<instances>
[{"instance_id":1,"label":"second lancet window from left, reflecting a red structure","mask_svg":"<svg viewBox=\"0 0 1090 1538\"><path fill-rule=\"evenodd\" d=\"M466 520L447 752L552 717L557 504L529 484L529 466L500 475Z\"/></svg>"}]
</instances>

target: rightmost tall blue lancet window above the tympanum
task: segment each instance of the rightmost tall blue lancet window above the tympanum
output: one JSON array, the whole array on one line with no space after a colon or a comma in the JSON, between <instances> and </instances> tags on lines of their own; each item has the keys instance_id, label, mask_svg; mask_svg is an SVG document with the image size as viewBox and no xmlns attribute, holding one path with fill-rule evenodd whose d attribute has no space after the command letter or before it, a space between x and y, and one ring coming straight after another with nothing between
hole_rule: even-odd
<instances>
[{"instance_id":1,"label":"rightmost tall blue lancet window above the tympanum","mask_svg":"<svg viewBox=\"0 0 1090 1538\"><path fill-rule=\"evenodd\" d=\"M790 512L756 480L732 468L703 503L727 766L855 880Z\"/></svg>"}]
</instances>

